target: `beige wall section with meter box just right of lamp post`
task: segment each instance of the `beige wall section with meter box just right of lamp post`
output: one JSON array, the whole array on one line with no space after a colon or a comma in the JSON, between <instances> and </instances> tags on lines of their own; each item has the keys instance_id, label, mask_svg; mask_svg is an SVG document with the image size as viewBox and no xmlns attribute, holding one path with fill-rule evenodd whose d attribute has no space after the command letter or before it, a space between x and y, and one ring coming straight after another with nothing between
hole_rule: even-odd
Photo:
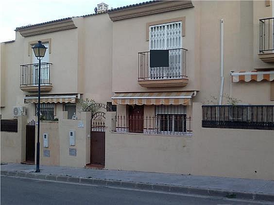
<instances>
[{"instance_id":1,"label":"beige wall section with meter box just right of lamp post","mask_svg":"<svg viewBox=\"0 0 274 205\"><path fill-rule=\"evenodd\" d=\"M59 139L58 121L42 121L40 125L40 160L43 165L60 164L60 139ZM43 134L48 134L49 147L44 147ZM44 156L44 150L50 151L50 157Z\"/></svg>"}]
</instances>

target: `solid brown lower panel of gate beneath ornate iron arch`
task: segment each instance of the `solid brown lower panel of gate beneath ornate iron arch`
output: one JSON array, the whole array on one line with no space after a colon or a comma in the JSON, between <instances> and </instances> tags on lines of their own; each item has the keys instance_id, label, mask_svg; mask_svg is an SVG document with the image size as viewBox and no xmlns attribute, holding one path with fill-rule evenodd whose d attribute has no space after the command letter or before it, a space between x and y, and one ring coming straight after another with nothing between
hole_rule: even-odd
<instances>
[{"instance_id":1,"label":"solid brown lower panel of gate beneath ornate iron arch","mask_svg":"<svg viewBox=\"0 0 274 205\"><path fill-rule=\"evenodd\" d=\"M104 166L105 132L91 131L90 163Z\"/></svg>"}]
</instances>

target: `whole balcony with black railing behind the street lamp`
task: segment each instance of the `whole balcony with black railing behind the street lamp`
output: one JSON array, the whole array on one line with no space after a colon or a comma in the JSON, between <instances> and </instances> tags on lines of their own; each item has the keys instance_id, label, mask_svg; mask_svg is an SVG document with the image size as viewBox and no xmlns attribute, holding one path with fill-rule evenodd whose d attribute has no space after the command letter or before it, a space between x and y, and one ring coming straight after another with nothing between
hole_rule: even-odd
<instances>
[{"instance_id":1,"label":"whole balcony with black railing behind the street lamp","mask_svg":"<svg viewBox=\"0 0 274 205\"><path fill-rule=\"evenodd\" d=\"M41 63L41 91L51 91L51 64ZM20 89L27 92L38 91L39 64L20 65Z\"/></svg>"}]
</instances>

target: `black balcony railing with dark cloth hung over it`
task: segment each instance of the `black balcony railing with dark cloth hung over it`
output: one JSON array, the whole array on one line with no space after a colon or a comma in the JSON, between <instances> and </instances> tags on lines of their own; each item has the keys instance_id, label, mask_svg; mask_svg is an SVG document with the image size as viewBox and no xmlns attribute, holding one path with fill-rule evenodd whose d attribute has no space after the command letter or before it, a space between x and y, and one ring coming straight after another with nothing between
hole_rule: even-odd
<instances>
[{"instance_id":1,"label":"black balcony railing with dark cloth hung over it","mask_svg":"<svg viewBox=\"0 0 274 205\"><path fill-rule=\"evenodd\" d=\"M187 77L187 49L169 49L169 67L150 67L150 51L138 53L138 80Z\"/></svg>"}]
</instances>

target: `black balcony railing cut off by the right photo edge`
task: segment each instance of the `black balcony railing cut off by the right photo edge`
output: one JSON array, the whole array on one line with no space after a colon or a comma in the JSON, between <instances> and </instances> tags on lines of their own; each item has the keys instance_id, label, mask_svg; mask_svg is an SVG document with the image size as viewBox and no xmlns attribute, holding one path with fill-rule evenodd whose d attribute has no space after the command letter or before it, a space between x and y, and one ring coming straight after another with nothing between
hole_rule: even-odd
<instances>
[{"instance_id":1,"label":"black balcony railing cut off by the right photo edge","mask_svg":"<svg viewBox=\"0 0 274 205\"><path fill-rule=\"evenodd\" d=\"M274 17L259 19L259 52L274 50Z\"/></svg>"}]
</instances>

